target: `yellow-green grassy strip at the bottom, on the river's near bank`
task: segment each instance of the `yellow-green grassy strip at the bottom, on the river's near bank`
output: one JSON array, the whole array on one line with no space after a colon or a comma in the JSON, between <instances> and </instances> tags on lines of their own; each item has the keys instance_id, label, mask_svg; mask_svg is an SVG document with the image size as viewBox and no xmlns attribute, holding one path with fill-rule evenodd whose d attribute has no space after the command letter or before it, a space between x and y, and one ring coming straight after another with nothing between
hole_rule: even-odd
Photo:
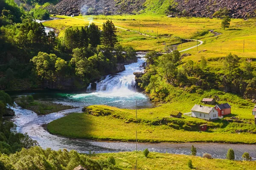
<instances>
[{"instance_id":1,"label":"yellow-green grassy strip at the bottom, on the river's near bank","mask_svg":"<svg viewBox=\"0 0 256 170\"><path fill-rule=\"evenodd\" d=\"M106 159L113 156L116 166L122 170L132 170L137 159L138 170L189 170L187 161L192 160L198 170L253 170L256 161L229 161L222 159L203 159L197 156L184 156L166 153L149 153L148 158L142 152L103 153L92 156L93 159Z\"/></svg>"}]
</instances>

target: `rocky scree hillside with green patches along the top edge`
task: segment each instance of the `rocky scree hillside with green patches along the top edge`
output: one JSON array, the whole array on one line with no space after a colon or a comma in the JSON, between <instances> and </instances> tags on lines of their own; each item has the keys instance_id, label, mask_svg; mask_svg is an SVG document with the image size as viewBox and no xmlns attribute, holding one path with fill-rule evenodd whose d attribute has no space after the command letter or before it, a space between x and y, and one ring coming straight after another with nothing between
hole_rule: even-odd
<instances>
[{"instance_id":1,"label":"rocky scree hillside with green patches along the top edge","mask_svg":"<svg viewBox=\"0 0 256 170\"><path fill-rule=\"evenodd\" d=\"M150 12L193 17L212 17L223 8L234 18L256 16L255 0L61 0L47 7L51 14L60 15Z\"/></svg>"}]
</instances>

